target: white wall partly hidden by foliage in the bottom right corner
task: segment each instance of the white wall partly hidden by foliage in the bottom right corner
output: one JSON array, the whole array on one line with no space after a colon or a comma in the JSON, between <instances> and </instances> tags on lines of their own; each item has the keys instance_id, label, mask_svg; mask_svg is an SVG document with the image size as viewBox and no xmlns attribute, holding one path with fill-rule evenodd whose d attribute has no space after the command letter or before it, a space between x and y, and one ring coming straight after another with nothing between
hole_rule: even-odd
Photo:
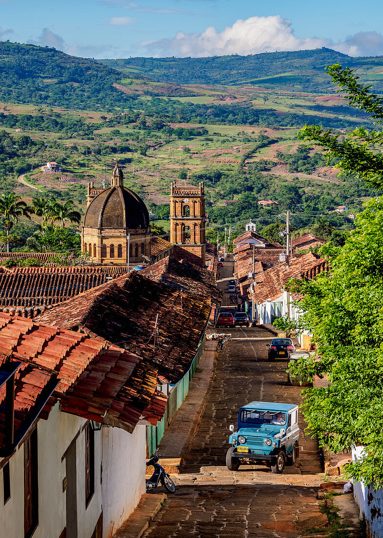
<instances>
[{"instance_id":1,"label":"white wall partly hidden by foliage in the bottom right corner","mask_svg":"<svg viewBox=\"0 0 383 538\"><path fill-rule=\"evenodd\" d=\"M352 447L352 461L363 458L364 447ZM383 536L383 490L374 490L371 485L355 482L354 497L360 509L360 517L364 514L370 538Z\"/></svg>"}]
</instances>

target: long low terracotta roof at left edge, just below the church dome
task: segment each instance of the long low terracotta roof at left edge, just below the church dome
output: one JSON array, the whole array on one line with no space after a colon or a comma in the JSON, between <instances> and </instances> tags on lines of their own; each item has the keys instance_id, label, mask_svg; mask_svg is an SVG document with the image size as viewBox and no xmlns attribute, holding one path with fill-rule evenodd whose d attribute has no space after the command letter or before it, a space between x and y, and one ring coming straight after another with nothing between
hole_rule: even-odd
<instances>
[{"instance_id":1,"label":"long low terracotta roof at left edge, just below the church dome","mask_svg":"<svg viewBox=\"0 0 383 538\"><path fill-rule=\"evenodd\" d=\"M127 274L127 266L14 267L0 274L0 308L32 316L118 274Z\"/></svg>"}]
</instances>

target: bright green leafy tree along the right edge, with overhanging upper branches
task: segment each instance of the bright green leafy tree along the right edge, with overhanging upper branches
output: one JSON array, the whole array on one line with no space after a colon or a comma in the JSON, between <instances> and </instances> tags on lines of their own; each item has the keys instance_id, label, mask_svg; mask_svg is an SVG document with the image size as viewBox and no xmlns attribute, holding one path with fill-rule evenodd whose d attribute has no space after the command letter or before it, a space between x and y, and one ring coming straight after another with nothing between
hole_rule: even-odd
<instances>
[{"instance_id":1,"label":"bright green leafy tree along the right edge, with overhanging upper branches","mask_svg":"<svg viewBox=\"0 0 383 538\"><path fill-rule=\"evenodd\" d=\"M383 122L383 100L357 82L348 68L328 68L351 106ZM341 173L353 173L370 185L383 185L383 133L357 128L339 134L307 126L300 138L321 146L336 159ZM383 199L373 200L356 218L356 230L342 247L322 249L331 273L292 282L303 298L301 328L313 334L315 357L302 359L295 373L327 375L329 386L304 391L308 426L331 452L362 444L364 457L348 465L356 480L383 487Z\"/></svg>"}]
</instances>

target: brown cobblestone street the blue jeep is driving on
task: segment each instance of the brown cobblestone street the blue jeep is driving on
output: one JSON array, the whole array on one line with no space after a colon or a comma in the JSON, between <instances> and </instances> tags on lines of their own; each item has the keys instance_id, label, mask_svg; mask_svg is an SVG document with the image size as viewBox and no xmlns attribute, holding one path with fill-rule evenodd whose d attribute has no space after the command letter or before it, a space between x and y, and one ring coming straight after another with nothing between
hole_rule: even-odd
<instances>
[{"instance_id":1,"label":"brown cobblestone street the blue jeep is driving on","mask_svg":"<svg viewBox=\"0 0 383 538\"><path fill-rule=\"evenodd\" d=\"M299 416L300 456L282 475L265 465L225 465L229 424L236 424L241 405L253 400L297 403L299 387L287 384L286 361L269 362L262 328L236 328L219 354L204 413L184 457L181 475L173 475L177 492L144 534L173 536L301 536L296 520L323 518L316 492L323 472L315 440L303 431ZM309 520L308 520L309 521ZM322 536L323 534L312 534Z\"/></svg>"}]
</instances>

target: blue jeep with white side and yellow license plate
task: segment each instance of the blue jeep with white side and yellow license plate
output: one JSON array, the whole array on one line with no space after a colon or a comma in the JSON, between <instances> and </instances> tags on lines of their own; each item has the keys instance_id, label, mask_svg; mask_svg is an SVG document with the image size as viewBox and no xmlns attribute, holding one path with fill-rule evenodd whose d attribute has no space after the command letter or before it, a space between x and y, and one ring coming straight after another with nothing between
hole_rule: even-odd
<instances>
[{"instance_id":1,"label":"blue jeep with white side and yellow license plate","mask_svg":"<svg viewBox=\"0 0 383 538\"><path fill-rule=\"evenodd\" d=\"M281 473L299 456L298 406L251 402L241 407L237 431L230 424L232 445L226 465L236 471L241 463L265 462L272 472Z\"/></svg>"}]
</instances>

